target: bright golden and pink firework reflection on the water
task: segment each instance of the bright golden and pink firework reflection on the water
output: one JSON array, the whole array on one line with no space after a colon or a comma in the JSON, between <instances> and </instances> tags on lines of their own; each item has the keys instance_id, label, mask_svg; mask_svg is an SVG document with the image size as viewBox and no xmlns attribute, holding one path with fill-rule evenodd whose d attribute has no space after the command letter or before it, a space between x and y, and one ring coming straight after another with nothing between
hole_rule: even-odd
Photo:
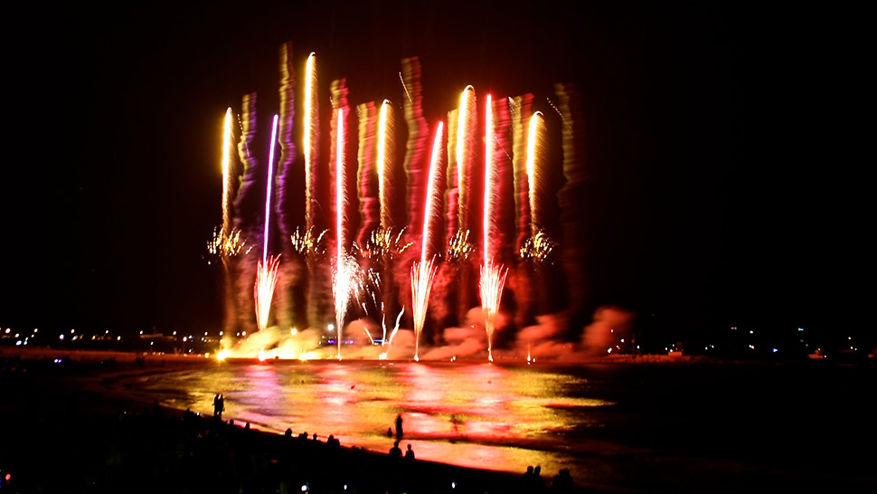
<instances>
[{"instance_id":1,"label":"bright golden and pink firework reflection on the water","mask_svg":"<svg viewBox=\"0 0 877 494\"><path fill-rule=\"evenodd\" d=\"M537 366L399 362L223 362L128 378L130 392L275 432L291 428L387 451L401 414L402 449L418 458L492 470L580 470L576 440L611 405L577 372ZM563 438L562 440L560 438ZM562 443L561 443L562 442Z\"/></svg>"}]
</instances>

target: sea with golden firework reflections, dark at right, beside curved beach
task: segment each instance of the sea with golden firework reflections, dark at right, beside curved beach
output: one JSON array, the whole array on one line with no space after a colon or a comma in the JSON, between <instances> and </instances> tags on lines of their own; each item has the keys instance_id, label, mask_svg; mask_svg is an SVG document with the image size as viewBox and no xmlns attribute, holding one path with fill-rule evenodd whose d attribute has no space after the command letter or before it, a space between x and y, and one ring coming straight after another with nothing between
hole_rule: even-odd
<instances>
[{"instance_id":1,"label":"sea with golden firework reflections, dark at right, beside curved beach","mask_svg":"<svg viewBox=\"0 0 877 494\"><path fill-rule=\"evenodd\" d=\"M548 479L569 469L599 489L858 491L877 487L872 364L227 360L104 385L205 416L222 394L239 425L379 452L399 440L420 460Z\"/></svg>"}]
</instances>

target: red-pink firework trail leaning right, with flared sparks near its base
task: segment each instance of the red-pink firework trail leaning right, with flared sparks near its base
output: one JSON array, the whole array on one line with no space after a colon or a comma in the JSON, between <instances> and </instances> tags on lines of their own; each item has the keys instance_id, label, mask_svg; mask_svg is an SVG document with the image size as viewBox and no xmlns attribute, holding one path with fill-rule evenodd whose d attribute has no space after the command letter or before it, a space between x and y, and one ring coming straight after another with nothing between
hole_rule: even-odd
<instances>
[{"instance_id":1,"label":"red-pink firework trail leaning right, with flared sparks near its base","mask_svg":"<svg viewBox=\"0 0 877 494\"><path fill-rule=\"evenodd\" d=\"M429 291L432 290L432 280L436 275L434 266L435 256L429 257L429 247L432 242L432 218L441 207L441 192L437 186L442 178L441 149L442 149L442 122L436 124L436 137L432 143L432 157L429 160L429 176L427 179L426 203L423 208L423 231L420 234L420 263L414 262L411 266L411 307L414 313L414 360L420 360L418 350L420 347L420 332L423 330L423 321L429 307Z\"/></svg>"}]
</instances>

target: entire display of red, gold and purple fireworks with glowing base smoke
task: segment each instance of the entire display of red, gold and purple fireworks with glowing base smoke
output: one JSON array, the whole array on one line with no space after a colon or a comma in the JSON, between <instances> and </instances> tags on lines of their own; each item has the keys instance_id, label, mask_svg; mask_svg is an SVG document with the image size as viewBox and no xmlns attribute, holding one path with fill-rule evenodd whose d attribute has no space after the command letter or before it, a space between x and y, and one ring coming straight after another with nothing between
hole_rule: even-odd
<instances>
[{"instance_id":1,"label":"entire display of red, gold and purple fireworks with glowing base smoke","mask_svg":"<svg viewBox=\"0 0 877 494\"><path fill-rule=\"evenodd\" d=\"M481 114L476 89L467 86L460 93L457 109L448 112L447 121L436 122L428 154L420 61L416 57L404 59L399 74L397 96L402 101L405 119L400 121L404 128L396 126L391 100L349 104L346 81L336 80L330 91L332 118L327 119L330 147L325 156L329 158L323 162L316 54L310 53L305 62L303 115L298 130L295 126L299 122L293 118L295 70L289 43L281 46L280 58L280 136L275 116L267 166L259 172L259 161L250 151L256 97L248 95L243 112L248 118L239 122L239 159L244 174L236 199L230 192L230 170L236 164L227 152L222 158L223 224L214 232L208 251L229 263L229 287L241 286L250 276L255 278L250 300L258 329L258 336L250 332L246 338L224 339L222 355L326 358L334 354L338 359L420 360L445 358L448 353L456 358L485 352L493 361L496 330L510 325L523 329L522 325L534 323L535 314L505 317L514 316L515 310L505 305L506 291L512 290L524 306L533 305L526 302L533 299L533 280L542 280L543 266L552 265L559 245L553 240L559 238L559 233L552 231L554 222L544 216L552 210L543 205L552 193L544 178L544 168L551 166L552 160L547 150L549 130L542 112L532 110L532 96L495 99L487 94ZM356 115L354 125L348 126L351 109ZM223 147L231 146L231 115L229 109ZM567 128L566 134L570 132ZM407 140L400 136L407 136ZM294 153L297 137L303 151L300 160ZM397 139L404 143L404 149L397 146ZM282 153L277 176L273 170L276 142ZM356 159L356 166L347 166L350 158ZM290 173L296 163L301 164L303 176ZM404 166L397 170L397 163ZM564 166L574 171L575 163L569 161ZM266 181L261 215L247 208L258 197L249 185L260 179ZM272 203L275 189L278 201ZM291 199L296 196L304 197L300 218L290 213L295 209L290 206ZM522 197L526 199L522 201ZM351 204L351 200L356 203ZM331 221L326 214L332 215ZM260 232L253 228L256 218L263 222ZM328 228L321 228L324 225ZM521 232L524 229L526 233ZM274 230L285 239L278 252L270 242ZM510 233L515 231L518 233ZM262 255L259 261L247 261L252 248L248 239L259 237ZM415 245L419 248L409 249ZM283 269L281 252L292 256ZM328 252L331 254L326 255ZM507 288L510 271L514 271L514 282ZM232 278L236 282L231 282ZM283 280L278 283L279 278ZM476 284L477 293L473 291ZM278 286L281 290L276 292ZM276 309L283 308L275 318L277 326L271 326L269 318L272 299ZM470 315L478 305L477 315ZM240 320L231 320L226 327L237 322L239 329L246 328L240 316L245 308L234 309ZM395 325L389 328L388 319L393 318ZM306 329L299 331L297 327ZM467 333L469 328L485 332L476 337ZM302 337L303 333L309 336ZM290 338L297 343L290 344ZM440 351L437 343L442 346ZM509 347L507 338L503 347ZM529 342L527 348L529 352Z\"/></svg>"}]
</instances>

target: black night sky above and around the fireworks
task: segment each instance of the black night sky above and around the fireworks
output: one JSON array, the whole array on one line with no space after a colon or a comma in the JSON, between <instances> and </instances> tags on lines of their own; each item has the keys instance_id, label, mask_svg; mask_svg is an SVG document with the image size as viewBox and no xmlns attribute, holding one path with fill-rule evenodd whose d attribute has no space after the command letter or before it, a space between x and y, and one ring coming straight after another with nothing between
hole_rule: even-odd
<instances>
[{"instance_id":1,"label":"black night sky above and around the fireworks","mask_svg":"<svg viewBox=\"0 0 877 494\"><path fill-rule=\"evenodd\" d=\"M396 98L401 58L419 56L430 125L467 84L541 101L575 84L592 307L680 337L861 331L863 295L846 293L864 267L843 245L857 243L857 199L838 199L840 155L808 123L824 117L788 84L829 56L784 27L794 16L731 2L180 4L9 19L24 30L5 34L3 328L217 331L221 270L203 254L222 221L222 118L258 91L267 143L291 41L299 76L316 52L321 97L346 77L354 104Z\"/></svg>"}]
</instances>

